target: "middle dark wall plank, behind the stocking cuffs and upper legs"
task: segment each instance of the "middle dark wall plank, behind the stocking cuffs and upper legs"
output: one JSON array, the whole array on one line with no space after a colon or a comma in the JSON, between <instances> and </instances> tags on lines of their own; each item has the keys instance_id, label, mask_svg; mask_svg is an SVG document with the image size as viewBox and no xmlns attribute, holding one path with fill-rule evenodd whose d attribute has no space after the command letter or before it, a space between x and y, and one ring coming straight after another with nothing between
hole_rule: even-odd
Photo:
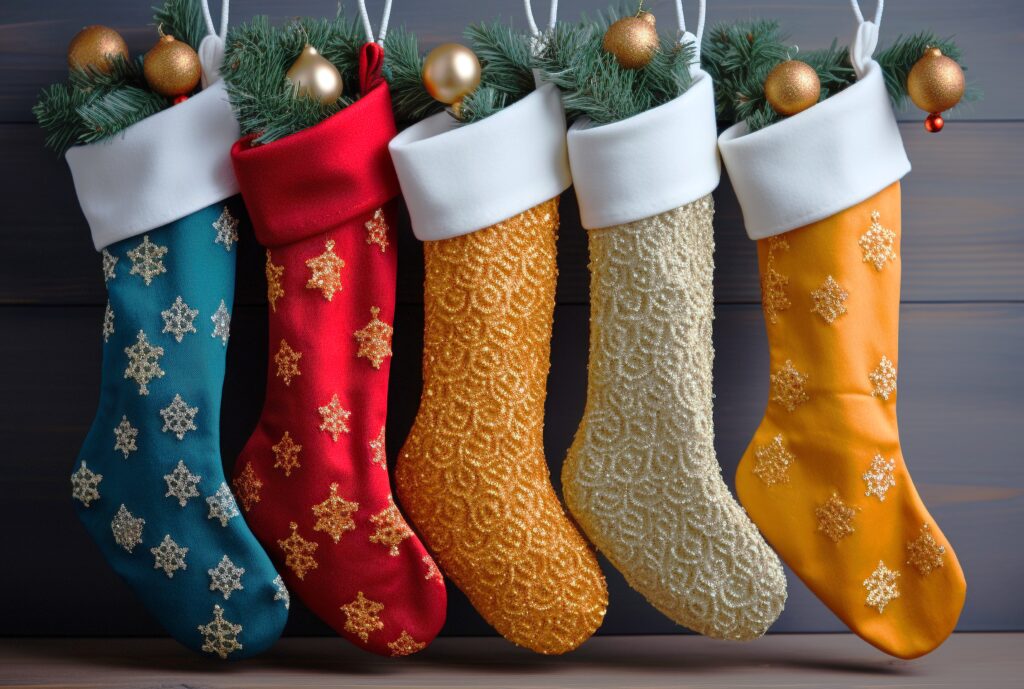
<instances>
[{"instance_id":1,"label":"middle dark wall plank, behind the stocking cuffs and upper legs","mask_svg":"<svg viewBox=\"0 0 1024 689\"><path fill-rule=\"evenodd\" d=\"M902 132L914 162L904 180L904 300L1024 299L1024 123L952 124L938 136L903 125ZM65 163L43 150L31 125L0 125L0 304L103 303L99 260ZM716 297L757 302L754 245L728 180L716 203ZM587 238L571 191L563 195L561 215L558 298L587 303ZM398 298L419 303L422 256L408 220L398 235ZM239 302L263 303L263 255L251 234L239 256Z\"/></svg>"}]
</instances>

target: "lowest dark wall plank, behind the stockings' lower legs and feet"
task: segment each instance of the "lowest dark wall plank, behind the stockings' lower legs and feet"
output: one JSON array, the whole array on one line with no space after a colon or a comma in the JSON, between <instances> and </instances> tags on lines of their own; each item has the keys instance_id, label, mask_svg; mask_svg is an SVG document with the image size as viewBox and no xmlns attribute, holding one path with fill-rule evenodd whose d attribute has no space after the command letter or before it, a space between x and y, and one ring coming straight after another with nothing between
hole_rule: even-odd
<instances>
[{"instance_id":1,"label":"lowest dark wall plank, behind the stockings' lower legs and feet","mask_svg":"<svg viewBox=\"0 0 1024 689\"><path fill-rule=\"evenodd\" d=\"M1024 418L1024 305L912 304L903 308L900 357L901 437L926 502L967 570L971 595L961 630L1019 630L1024 594L1024 457L1014 430ZM0 523L5 533L0 636L155 635L159 629L101 561L76 523L68 474L95 411L99 382L100 307L0 308ZM546 449L557 481L583 414L588 309L556 311L547 405ZM397 454L416 415L422 311L398 309L387 432ZM262 307L232 318L222 418L229 467L259 417L265 376ZM767 398L767 352L760 309L717 310L716 428L724 474L736 462ZM73 571L74 575L70 575ZM611 605L605 634L679 631L607 567ZM842 627L793 576L781 632ZM445 633L488 634L453 590ZM73 612L69 612L73 611ZM293 606L292 634L326 628Z\"/></svg>"}]
</instances>

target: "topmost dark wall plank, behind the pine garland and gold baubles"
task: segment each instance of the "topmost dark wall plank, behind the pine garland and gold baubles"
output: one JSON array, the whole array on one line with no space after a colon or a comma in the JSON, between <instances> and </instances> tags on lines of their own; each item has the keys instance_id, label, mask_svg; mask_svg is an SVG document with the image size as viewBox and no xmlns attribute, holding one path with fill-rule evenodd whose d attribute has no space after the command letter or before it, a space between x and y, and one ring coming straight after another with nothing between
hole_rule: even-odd
<instances>
[{"instance_id":1,"label":"topmost dark wall plank, behind the pine garland and gold baubles","mask_svg":"<svg viewBox=\"0 0 1024 689\"><path fill-rule=\"evenodd\" d=\"M133 53L147 50L155 42L148 26L153 12L148 2L111 0L101 4L60 0L53 3L5 2L0 5L0 122L31 121L30 110L43 85L67 75L66 46L85 25L103 24L125 35ZM330 15L334 5L315 0L251 0L231 8L232 24L254 14L269 13L282 20L288 16ZM657 14L664 30L674 23L669 0L647 3ZM592 0L561 3L559 15L574 19L581 12L604 7ZM354 12L349 3L346 8ZM546 7L538 7L538 15ZM692 11L692 10L690 10ZM463 27L498 16L512 17L523 26L515 3L498 2L412 2L395 8L393 21L417 32L426 46L461 40ZM755 0L718 0L710 8L709 21L745 19L752 16L777 18L803 50L825 47L834 37L843 43L854 33L853 15L843 2L764 3ZM376 17L375 17L376 19ZM932 29L941 35L955 34L964 48L969 77L984 91L984 99L963 109L966 119L1018 119L1024 109L1024 94L1011 85L1017 83L1017 66L1024 61L1024 48L1017 28L1024 19L1024 7L1014 0L988 0L984 11L971 3L892 3L886 8L881 44L886 46L900 34ZM695 17L690 17L691 24ZM921 114L911 109L903 115L920 123ZM920 124L919 124L920 126Z\"/></svg>"}]
</instances>

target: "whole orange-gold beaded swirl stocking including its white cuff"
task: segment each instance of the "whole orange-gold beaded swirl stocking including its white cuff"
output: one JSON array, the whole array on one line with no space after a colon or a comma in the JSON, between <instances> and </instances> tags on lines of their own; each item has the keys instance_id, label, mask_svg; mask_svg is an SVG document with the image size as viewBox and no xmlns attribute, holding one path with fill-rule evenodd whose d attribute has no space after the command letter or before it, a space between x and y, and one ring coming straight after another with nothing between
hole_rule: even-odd
<instances>
[{"instance_id":1,"label":"whole orange-gold beaded swirl stocking including its white cuff","mask_svg":"<svg viewBox=\"0 0 1024 689\"><path fill-rule=\"evenodd\" d=\"M398 494L487 622L541 653L586 641L607 603L543 447L564 132L544 86L472 125L442 113L391 142L426 258L423 395Z\"/></svg>"}]
</instances>

